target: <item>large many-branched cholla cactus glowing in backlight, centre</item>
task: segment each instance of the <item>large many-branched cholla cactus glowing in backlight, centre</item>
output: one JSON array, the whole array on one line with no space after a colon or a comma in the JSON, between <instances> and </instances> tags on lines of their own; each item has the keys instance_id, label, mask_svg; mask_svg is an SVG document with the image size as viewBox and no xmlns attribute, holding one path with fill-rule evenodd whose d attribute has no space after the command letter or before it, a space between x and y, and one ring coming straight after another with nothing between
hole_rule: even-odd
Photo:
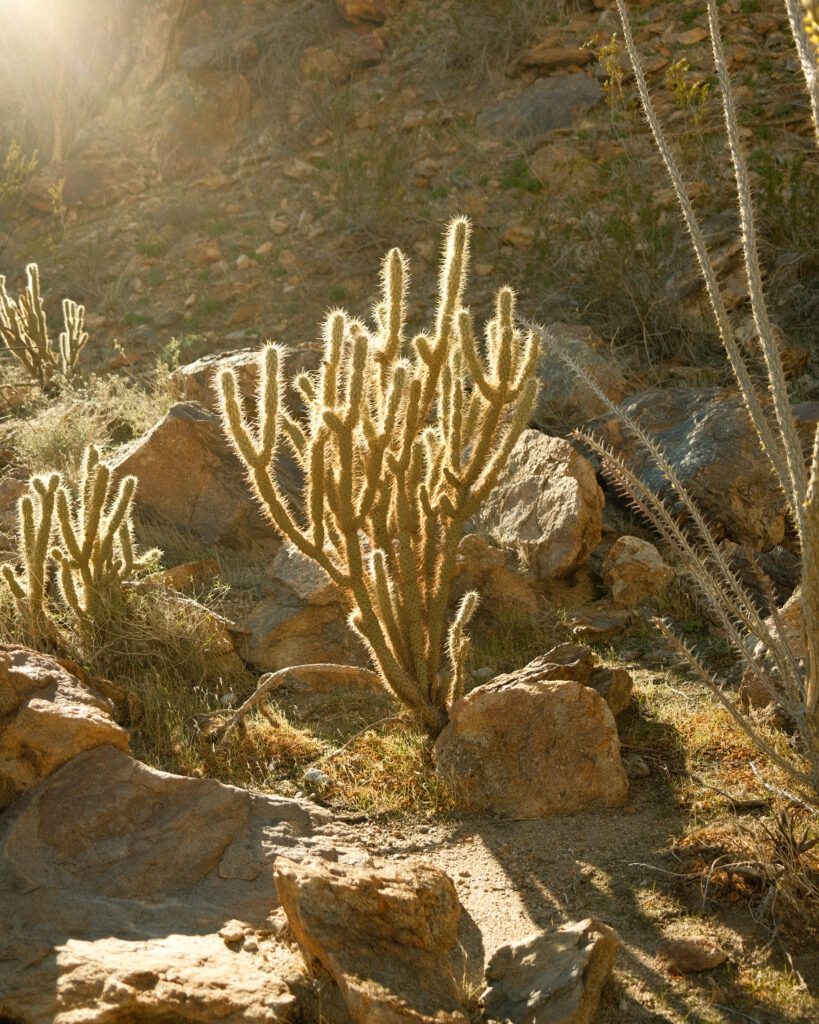
<instances>
[{"instance_id":1,"label":"large many-branched cholla cactus glowing in backlight, centre","mask_svg":"<svg viewBox=\"0 0 819 1024\"><path fill-rule=\"evenodd\" d=\"M295 384L306 422L284 407L282 350L259 358L254 422L236 377L219 384L224 428L275 528L345 594L350 625L381 680L431 735L463 691L467 594L447 629L458 544L526 426L536 395L537 345L515 327L504 288L486 325L485 351L462 306L469 223L448 230L434 331L407 344L407 263L393 249L383 264L375 329L348 313L325 325L325 361ZM300 509L275 478L287 444L305 476ZM444 648L448 671L442 671Z\"/></svg>"}]
</instances>

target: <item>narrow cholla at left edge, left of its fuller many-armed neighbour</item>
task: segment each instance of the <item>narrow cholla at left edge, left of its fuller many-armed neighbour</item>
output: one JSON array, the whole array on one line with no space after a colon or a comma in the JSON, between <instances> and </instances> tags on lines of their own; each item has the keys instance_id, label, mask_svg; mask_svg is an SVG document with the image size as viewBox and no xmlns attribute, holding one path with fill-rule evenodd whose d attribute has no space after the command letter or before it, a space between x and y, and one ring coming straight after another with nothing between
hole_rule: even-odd
<instances>
[{"instance_id":1,"label":"narrow cholla at left edge, left of its fuller many-armed neighbour","mask_svg":"<svg viewBox=\"0 0 819 1024\"><path fill-rule=\"evenodd\" d=\"M2 566L2 575L20 621L35 636L50 632L46 611L48 558L54 527L54 501L60 480L57 473L49 477L35 476L29 494L17 503L18 544L21 572L10 565Z\"/></svg>"}]
</instances>

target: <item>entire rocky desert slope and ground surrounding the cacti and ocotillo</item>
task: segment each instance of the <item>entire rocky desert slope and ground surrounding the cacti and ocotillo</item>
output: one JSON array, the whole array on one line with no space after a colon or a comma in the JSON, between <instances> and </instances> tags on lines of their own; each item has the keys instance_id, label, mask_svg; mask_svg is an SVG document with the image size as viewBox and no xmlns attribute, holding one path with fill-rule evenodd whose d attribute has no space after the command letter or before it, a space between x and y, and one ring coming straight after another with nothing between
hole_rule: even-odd
<instances>
[{"instance_id":1,"label":"entire rocky desert slope and ground surrounding the cacti and ocotillo","mask_svg":"<svg viewBox=\"0 0 819 1024\"><path fill-rule=\"evenodd\" d=\"M261 674L367 657L334 588L258 512L213 369L249 389L268 337L289 370L315 369L324 314L369 314L393 245L421 327L455 214L474 222L471 308L488 316L513 285L662 441L746 579L756 561L792 607L784 502L730 389L613 5L6 6L0 272L16 294L36 260L49 312L84 303L91 340L57 397L0 367L3 558L29 476L75 481L90 441L137 477L137 539L163 557L133 616L104 643L77 638L74 662L26 651L2 609L0 1016L813 1020L810 822L761 786L753 749L648 625L673 615L740 685L690 583L570 430L663 480L547 353L530 429L459 552L459 593L483 594L473 689L435 752L363 679L288 680L218 742ZM749 332L701 5L632 7ZM782 5L720 9L807 440L808 105Z\"/></svg>"}]
</instances>

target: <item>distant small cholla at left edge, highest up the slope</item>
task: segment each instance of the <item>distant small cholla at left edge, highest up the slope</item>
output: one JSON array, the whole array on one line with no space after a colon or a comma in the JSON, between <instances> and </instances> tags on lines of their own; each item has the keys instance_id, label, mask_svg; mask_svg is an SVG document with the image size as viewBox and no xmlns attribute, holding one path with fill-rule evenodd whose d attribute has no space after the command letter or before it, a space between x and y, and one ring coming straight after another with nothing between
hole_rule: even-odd
<instances>
[{"instance_id":1,"label":"distant small cholla at left edge, highest up the slope","mask_svg":"<svg viewBox=\"0 0 819 1024\"><path fill-rule=\"evenodd\" d=\"M16 302L6 291L6 279L0 274L0 338L31 379L48 391L56 380L69 380L74 374L88 341L85 307L71 299L62 300L63 327L54 348L40 294L37 264L30 263L26 273L26 291Z\"/></svg>"}]
</instances>

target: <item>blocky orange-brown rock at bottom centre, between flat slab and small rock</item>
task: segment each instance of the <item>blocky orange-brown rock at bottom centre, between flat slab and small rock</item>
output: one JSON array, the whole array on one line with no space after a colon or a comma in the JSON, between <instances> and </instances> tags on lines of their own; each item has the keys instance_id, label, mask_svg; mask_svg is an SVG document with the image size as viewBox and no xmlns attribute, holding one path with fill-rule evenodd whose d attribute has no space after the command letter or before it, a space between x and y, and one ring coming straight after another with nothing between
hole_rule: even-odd
<instances>
[{"instance_id":1,"label":"blocky orange-brown rock at bottom centre, between flat slab and small rock","mask_svg":"<svg viewBox=\"0 0 819 1024\"><path fill-rule=\"evenodd\" d=\"M282 859L275 879L308 967L333 978L353 1024L465 1024L449 962L461 904L443 871Z\"/></svg>"}]
</instances>

